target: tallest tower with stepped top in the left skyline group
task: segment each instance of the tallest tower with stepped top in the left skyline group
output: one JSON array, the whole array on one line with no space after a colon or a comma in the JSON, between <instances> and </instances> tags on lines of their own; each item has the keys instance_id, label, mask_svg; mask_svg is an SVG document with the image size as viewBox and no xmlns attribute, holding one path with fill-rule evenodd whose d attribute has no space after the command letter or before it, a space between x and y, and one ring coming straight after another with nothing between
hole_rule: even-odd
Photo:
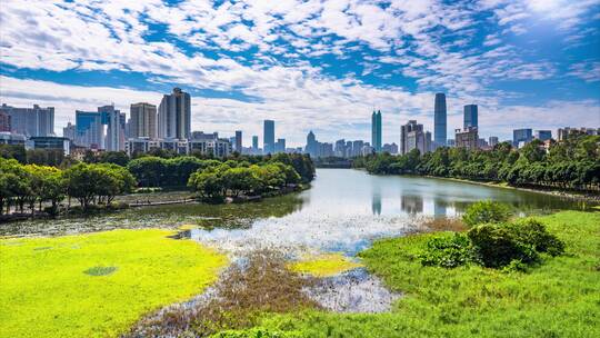
<instances>
[{"instance_id":1,"label":"tallest tower with stepped top in the left skyline group","mask_svg":"<svg viewBox=\"0 0 600 338\"><path fill-rule=\"evenodd\" d=\"M180 88L164 95L158 109L158 137L188 139L191 135L191 98Z\"/></svg>"}]
</instances>

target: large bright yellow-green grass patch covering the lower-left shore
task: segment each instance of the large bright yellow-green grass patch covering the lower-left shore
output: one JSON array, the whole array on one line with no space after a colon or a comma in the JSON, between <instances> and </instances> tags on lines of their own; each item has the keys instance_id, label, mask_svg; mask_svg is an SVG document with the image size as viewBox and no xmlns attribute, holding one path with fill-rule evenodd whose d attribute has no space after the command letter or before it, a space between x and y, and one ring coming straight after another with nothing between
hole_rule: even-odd
<instances>
[{"instance_id":1,"label":"large bright yellow-green grass patch covering the lower-left shore","mask_svg":"<svg viewBox=\"0 0 600 338\"><path fill-rule=\"evenodd\" d=\"M117 337L141 315L201 292L227 258L170 235L0 240L0 337Z\"/></svg>"}]
</instances>

